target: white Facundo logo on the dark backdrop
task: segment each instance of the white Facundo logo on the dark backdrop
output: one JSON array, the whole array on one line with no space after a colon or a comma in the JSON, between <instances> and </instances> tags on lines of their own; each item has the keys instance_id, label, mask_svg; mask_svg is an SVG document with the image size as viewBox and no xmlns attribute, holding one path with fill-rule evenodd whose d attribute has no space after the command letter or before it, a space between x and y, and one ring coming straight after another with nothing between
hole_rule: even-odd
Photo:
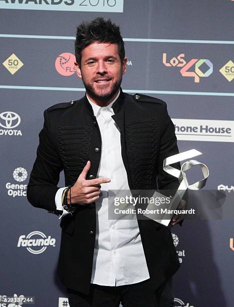
<instances>
[{"instance_id":1,"label":"white Facundo logo on the dark backdrop","mask_svg":"<svg viewBox=\"0 0 234 307\"><path fill-rule=\"evenodd\" d=\"M34 236L36 236L36 238L32 238ZM21 235L19 237L17 247L26 247L29 252L37 255L43 253L48 246L55 247L55 243L55 238L51 238L51 236L47 238L41 231L32 231L27 236ZM39 247L39 249L35 247Z\"/></svg>"}]
</instances>

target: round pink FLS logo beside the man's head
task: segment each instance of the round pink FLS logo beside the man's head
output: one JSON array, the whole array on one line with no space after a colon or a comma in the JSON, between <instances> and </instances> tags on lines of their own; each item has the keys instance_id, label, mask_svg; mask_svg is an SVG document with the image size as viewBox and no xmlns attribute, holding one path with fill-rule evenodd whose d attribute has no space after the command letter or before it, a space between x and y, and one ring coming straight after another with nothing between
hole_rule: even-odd
<instances>
[{"instance_id":1,"label":"round pink FLS logo beside the man's head","mask_svg":"<svg viewBox=\"0 0 234 307\"><path fill-rule=\"evenodd\" d=\"M74 54L69 52L61 53L55 61L55 68L59 74L66 77L71 76L76 72L74 62L76 62Z\"/></svg>"}]
</instances>

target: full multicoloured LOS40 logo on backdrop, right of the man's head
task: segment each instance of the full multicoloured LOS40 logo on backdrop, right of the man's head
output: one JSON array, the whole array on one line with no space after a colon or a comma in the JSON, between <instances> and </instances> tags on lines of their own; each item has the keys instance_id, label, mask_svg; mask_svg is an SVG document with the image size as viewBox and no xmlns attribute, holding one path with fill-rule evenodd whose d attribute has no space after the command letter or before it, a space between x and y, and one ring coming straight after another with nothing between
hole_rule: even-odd
<instances>
[{"instance_id":1,"label":"full multicoloured LOS40 logo on backdrop, right of the man's head","mask_svg":"<svg viewBox=\"0 0 234 307\"><path fill-rule=\"evenodd\" d=\"M194 82L200 82L200 77L208 77L213 72L213 64L207 59L191 59L189 62L184 60L184 53L179 54L177 57L173 57L167 60L167 54L162 54L162 63L167 67L182 67L180 73L183 77L193 77ZM202 64L207 65L207 70L205 72L201 71L200 66ZM193 71L188 71L193 67Z\"/></svg>"}]
</instances>

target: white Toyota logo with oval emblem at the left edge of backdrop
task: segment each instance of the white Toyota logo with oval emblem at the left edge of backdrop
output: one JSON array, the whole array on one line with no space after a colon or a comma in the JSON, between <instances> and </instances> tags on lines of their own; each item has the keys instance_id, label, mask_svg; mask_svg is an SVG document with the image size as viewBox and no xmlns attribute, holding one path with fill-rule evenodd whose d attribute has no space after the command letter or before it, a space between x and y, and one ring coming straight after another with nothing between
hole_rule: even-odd
<instances>
[{"instance_id":1,"label":"white Toyota logo with oval emblem at the left edge of backdrop","mask_svg":"<svg viewBox=\"0 0 234 307\"><path fill-rule=\"evenodd\" d=\"M5 129L0 129L0 135L21 135L21 130L16 128L21 123L20 115L16 112L5 111L0 114L0 126Z\"/></svg>"}]
</instances>

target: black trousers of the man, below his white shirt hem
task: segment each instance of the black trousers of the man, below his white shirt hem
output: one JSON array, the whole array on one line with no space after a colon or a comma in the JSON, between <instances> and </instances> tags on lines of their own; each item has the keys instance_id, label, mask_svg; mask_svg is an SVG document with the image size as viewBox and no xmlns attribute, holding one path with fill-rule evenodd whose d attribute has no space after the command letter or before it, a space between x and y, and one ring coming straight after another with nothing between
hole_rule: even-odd
<instances>
[{"instance_id":1,"label":"black trousers of the man, below his white shirt hem","mask_svg":"<svg viewBox=\"0 0 234 307\"><path fill-rule=\"evenodd\" d=\"M172 307L171 278L160 288L156 289L150 279L145 281L122 285L101 286L91 285L89 295L67 289L70 307Z\"/></svg>"}]
</instances>

